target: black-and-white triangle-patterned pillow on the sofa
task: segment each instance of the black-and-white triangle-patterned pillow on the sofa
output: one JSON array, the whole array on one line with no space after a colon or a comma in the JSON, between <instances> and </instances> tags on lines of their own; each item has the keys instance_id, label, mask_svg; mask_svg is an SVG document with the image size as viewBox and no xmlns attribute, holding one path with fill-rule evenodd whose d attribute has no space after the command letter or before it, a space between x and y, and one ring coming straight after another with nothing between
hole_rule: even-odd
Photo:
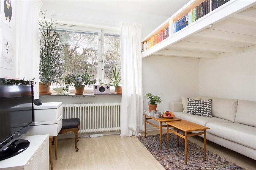
<instances>
[{"instance_id":1,"label":"black-and-white triangle-patterned pillow on the sofa","mask_svg":"<svg viewBox=\"0 0 256 170\"><path fill-rule=\"evenodd\" d=\"M187 98L187 113L191 115L212 117L211 115L212 100L195 100Z\"/></svg>"}]
</instances>

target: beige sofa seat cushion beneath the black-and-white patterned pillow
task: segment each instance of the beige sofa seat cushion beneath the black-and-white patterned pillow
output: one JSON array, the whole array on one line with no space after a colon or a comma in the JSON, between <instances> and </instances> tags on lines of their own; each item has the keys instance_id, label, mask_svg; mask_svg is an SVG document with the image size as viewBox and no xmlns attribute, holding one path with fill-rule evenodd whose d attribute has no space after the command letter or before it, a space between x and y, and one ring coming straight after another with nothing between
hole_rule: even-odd
<instances>
[{"instance_id":1,"label":"beige sofa seat cushion beneath the black-and-white patterned pillow","mask_svg":"<svg viewBox=\"0 0 256 170\"><path fill-rule=\"evenodd\" d=\"M209 122L224 122L224 123L232 123L231 121L217 118L217 117L203 117L203 116L197 116L197 115L190 115L183 112L173 112L175 117L181 118L183 120L191 121L197 124L201 124L205 126L206 123Z\"/></svg>"}]
</instances>

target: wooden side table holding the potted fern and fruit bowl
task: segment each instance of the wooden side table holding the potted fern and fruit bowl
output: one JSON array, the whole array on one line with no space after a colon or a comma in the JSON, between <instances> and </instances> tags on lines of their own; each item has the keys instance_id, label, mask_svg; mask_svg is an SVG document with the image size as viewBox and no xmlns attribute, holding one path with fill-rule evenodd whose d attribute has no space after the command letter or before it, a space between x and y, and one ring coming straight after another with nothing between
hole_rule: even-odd
<instances>
[{"instance_id":1,"label":"wooden side table holding the potted fern and fruit bowl","mask_svg":"<svg viewBox=\"0 0 256 170\"><path fill-rule=\"evenodd\" d=\"M151 116L148 116L146 114L143 114L145 115L145 138L146 138L146 123L149 123L151 124L152 126L155 126L156 128L160 129L160 150L162 150L162 127L166 127L167 125L162 125L162 123L165 123L167 121L177 121L177 120L181 120L180 118L172 118L172 119L167 119L167 118L155 118L155 117L151 117ZM148 117L148 118L147 118ZM159 126L147 121L148 119L153 119L153 120L156 120L159 122Z\"/></svg>"}]
</instances>

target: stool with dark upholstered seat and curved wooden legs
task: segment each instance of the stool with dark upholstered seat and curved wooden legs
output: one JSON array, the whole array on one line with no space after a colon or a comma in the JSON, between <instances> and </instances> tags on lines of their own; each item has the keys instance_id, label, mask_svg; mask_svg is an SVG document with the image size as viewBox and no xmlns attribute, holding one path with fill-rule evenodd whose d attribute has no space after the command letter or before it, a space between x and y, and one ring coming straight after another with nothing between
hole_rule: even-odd
<instances>
[{"instance_id":1,"label":"stool with dark upholstered seat and curved wooden legs","mask_svg":"<svg viewBox=\"0 0 256 170\"><path fill-rule=\"evenodd\" d=\"M59 131L59 134L64 134L69 131L75 133L75 149L78 151L77 142L78 140L78 130L80 129L80 120L78 118L62 119L62 128Z\"/></svg>"}]
</instances>

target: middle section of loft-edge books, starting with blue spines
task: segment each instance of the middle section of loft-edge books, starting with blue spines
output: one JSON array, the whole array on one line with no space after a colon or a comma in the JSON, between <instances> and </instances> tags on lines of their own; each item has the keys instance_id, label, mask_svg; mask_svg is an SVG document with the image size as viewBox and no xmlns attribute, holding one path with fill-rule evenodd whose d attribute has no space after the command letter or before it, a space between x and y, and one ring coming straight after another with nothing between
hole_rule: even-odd
<instances>
[{"instance_id":1,"label":"middle section of loft-edge books, starting with blue spines","mask_svg":"<svg viewBox=\"0 0 256 170\"><path fill-rule=\"evenodd\" d=\"M200 5L196 6L194 9L192 9L185 16L181 17L177 21L174 21L172 23L172 33L178 32L179 30L183 29L184 27L188 26L189 24L192 24L197 19L205 16L209 12L211 12L210 0L205 0Z\"/></svg>"}]
</instances>

